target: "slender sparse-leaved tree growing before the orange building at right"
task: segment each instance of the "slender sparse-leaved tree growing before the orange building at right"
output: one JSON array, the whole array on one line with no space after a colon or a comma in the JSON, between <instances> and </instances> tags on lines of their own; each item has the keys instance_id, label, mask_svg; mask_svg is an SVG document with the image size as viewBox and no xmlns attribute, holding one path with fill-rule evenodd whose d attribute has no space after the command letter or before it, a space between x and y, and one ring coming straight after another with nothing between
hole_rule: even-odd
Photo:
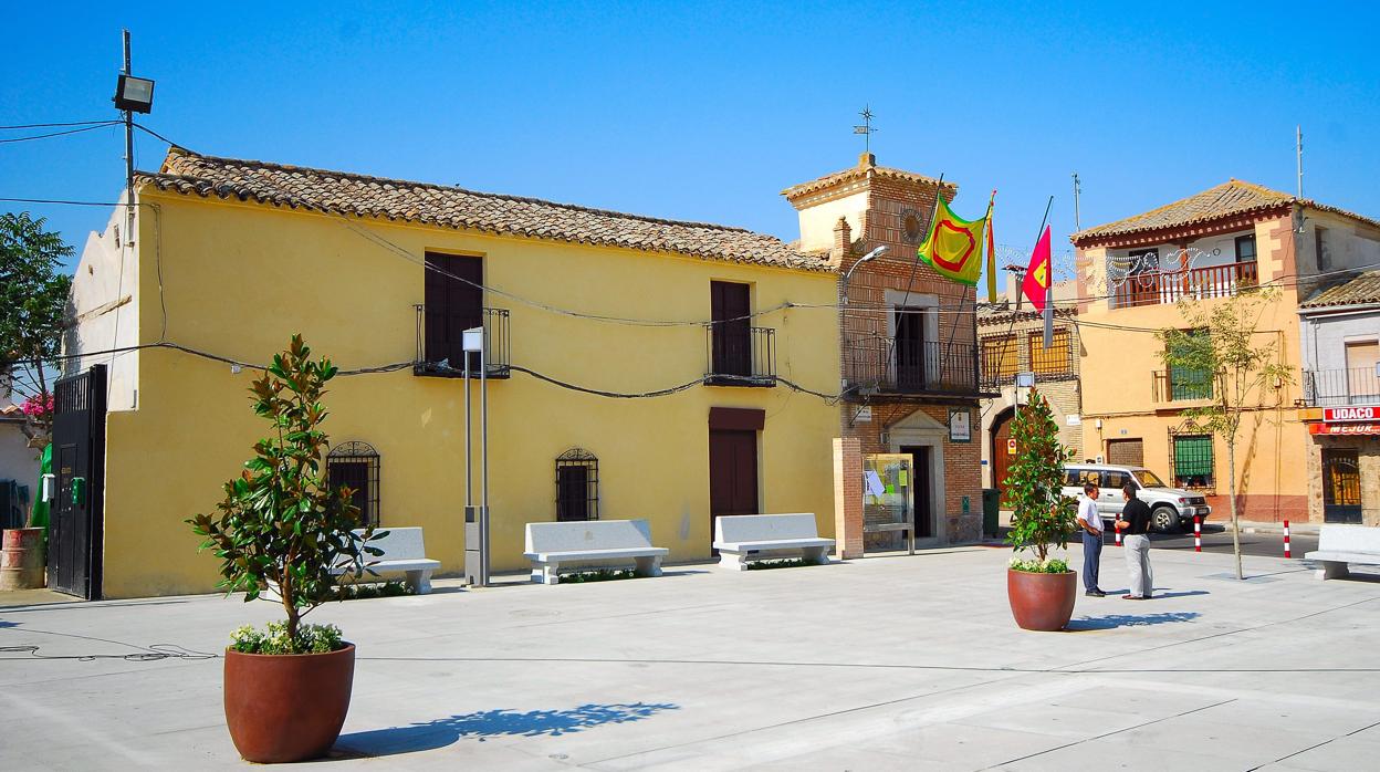
<instances>
[{"instance_id":1,"label":"slender sparse-leaved tree growing before the orange building at right","mask_svg":"<svg viewBox=\"0 0 1380 772\"><path fill-rule=\"evenodd\" d=\"M1184 414L1227 445L1227 492L1231 505L1231 547L1236 555L1236 579L1241 568L1241 529L1236 510L1236 441L1242 417L1267 405L1274 392L1293 383L1289 367L1278 360L1278 340L1260 334L1260 316L1279 300L1279 290L1260 289L1225 300L1180 300L1179 311L1188 330L1166 329L1156 333L1165 344L1161 358L1172 371L1187 373L1191 380L1210 384L1199 388L1208 405L1188 407Z\"/></svg>"}]
</instances>

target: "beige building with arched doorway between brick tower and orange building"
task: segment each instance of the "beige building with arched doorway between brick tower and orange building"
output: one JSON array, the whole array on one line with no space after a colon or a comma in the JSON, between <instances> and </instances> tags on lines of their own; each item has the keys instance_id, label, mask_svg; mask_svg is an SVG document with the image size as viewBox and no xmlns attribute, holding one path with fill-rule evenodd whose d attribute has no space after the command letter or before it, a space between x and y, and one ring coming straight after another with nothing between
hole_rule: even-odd
<instances>
[{"instance_id":1,"label":"beige building with arched doorway between brick tower and orange building","mask_svg":"<svg viewBox=\"0 0 1380 772\"><path fill-rule=\"evenodd\" d=\"M1012 418L1017 402L1029 399L1025 388L1016 388L1017 373L1032 373L1035 388L1049 401L1058 424L1058 441L1082 460L1082 394L1079 392L1079 336L1075 282L1054 284L1053 345L1045 348L1043 316L1018 298L1020 286L1009 280L1007 300L981 302L977 307L977 341L983 360L983 488L1003 490L1006 467L1014 457ZM1005 492L1003 492L1005 497Z\"/></svg>"}]
</instances>

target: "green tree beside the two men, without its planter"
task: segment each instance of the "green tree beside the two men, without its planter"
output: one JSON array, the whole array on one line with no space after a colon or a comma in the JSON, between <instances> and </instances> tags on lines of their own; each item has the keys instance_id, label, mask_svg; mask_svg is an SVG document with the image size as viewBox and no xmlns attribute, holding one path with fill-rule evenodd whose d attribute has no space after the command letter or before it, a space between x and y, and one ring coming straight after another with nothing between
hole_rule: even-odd
<instances>
[{"instance_id":1,"label":"green tree beside the two men, without its planter","mask_svg":"<svg viewBox=\"0 0 1380 772\"><path fill-rule=\"evenodd\" d=\"M1012 504L1012 532L1006 541L1018 552L1032 550L1034 570L1067 569L1063 561L1050 561L1049 552L1068 547L1068 537L1078 530L1075 501L1064 496L1064 463L1072 450L1058 442L1058 424L1049 402L1031 388L1029 403L1017 407L1012 421L1016 460L1006 470L1003 486ZM1058 565L1052 565L1058 563ZM1016 563L1013 563L1014 566Z\"/></svg>"}]
</instances>

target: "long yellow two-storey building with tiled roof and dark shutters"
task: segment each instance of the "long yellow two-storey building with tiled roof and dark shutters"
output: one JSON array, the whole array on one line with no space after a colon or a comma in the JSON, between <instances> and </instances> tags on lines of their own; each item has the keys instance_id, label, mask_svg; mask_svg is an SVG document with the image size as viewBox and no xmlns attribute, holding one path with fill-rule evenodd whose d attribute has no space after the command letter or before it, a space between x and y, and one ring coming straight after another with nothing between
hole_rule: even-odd
<instances>
[{"instance_id":1,"label":"long yellow two-storey building with tiled roof and dark shutters","mask_svg":"<svg viewBox=\"0 0 1380 772\"><path fill-rule=\"evenodd\" d=\"M94 595L214 587L217 561L182 521L251 456L253 365L293 333L342 370L326 398L333 476L384 526L422 526L443 572L465 547L458 331L480 323L494 570L527 566L534 521L647 518L671 561L708 558L712 515L742 508L834 530L839 413L807 392L839 389L827 257L737 228L179 148L138 175L135 203L132 242L120 209L73 290L69 352L86 356L72 370L109 377ZM475 475L477 490L477 460Z\"/></svg>"}]
</instances>

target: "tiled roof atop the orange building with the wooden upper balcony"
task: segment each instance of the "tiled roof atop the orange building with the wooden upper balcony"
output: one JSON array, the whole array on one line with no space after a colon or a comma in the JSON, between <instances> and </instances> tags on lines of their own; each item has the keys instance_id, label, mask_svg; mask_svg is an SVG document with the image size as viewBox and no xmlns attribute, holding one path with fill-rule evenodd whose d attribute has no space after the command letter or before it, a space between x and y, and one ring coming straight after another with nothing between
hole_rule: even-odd
<instances>
[{"instance_id":1,"label":"tiled roof atop the orange building with the wooden upper balcony","mask_svg":"<svg viewBox=\"0 0 1380 772\"><path fill-rule=\"evenodd\" d=\"M1265 211L1279 206L1296 203L1340 214L1343 217L1350 217L1352 220L1359 220L1370 225L1380 225L1380 222L1376 222L1369 217L1362 217L1344 209L1322 204L1311 199L1300 199L1290 193L1274 191L1271 188L1245 182L1242 180L1228 180L1216 188L1194 193L1187 199L1180 199L1159 209L1152 209L1147 213L1127 217L1126 220L1118 220L1116 222L1108 222L1107 225L1087 228L1070 238L1076 244L1094 238L1125 236L1145 231L1162 231L1166 228L1196 225L1199 222L1210 222L1213 220Z\"/></svg>"}]
</instances>

